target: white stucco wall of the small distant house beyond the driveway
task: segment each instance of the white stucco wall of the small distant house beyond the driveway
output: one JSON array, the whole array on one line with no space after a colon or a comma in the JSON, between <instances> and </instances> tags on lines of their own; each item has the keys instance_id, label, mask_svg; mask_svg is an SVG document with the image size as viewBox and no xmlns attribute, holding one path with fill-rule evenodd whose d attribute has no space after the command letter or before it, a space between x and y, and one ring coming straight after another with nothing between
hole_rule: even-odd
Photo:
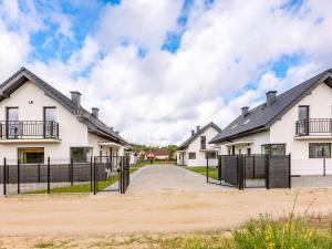
<instances>
[{"instance_id":1,"label":"white stucco wall of the small distant house beyond the driveway","mask_svg":"<svg viewBox=\"0 0 332 249\"><path fill-rule=\"evenodd\" d=\"M184 163L187 166L206 166L206 151L200 149L200 137L206 136L206 149L207 151L217 151L214 145L209 144L209 142L218 134L218 131L214 127L209 127L206 129L200 136L194 139L189 146L183 151L185 152ZM181 164L183 159L179 157L179 153L177 152L177 164ZM189 159L188 154L196 153L196 159ZM209 159L209 165L217 165L217 159Z\"/></svg>"}]
</instances>

